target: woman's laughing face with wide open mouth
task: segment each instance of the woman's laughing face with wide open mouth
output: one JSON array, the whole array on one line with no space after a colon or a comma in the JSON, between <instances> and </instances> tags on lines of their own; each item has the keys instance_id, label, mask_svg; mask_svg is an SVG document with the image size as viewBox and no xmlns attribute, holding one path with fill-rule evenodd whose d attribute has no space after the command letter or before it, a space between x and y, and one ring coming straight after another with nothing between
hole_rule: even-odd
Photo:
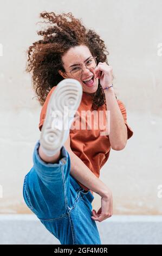
<instances>
[{"instance_id":1,"label":"woman's laughing face with wide open mouth","mask_svg":"<svg viewBox=\"0 0 162 256\"><path fill-rule=\"evenodd\" d=\"M98 78L94 78L93 70L89 70L85 66L85 60L89 57L93 57L92 54L89 51L89 48L85 45L75 46L70 48L63 56L62 56L62 62L63 66L66 72L69 72L73 69L75 69L76 66L72 66L74 64L80 64L77 66L81 66L83 68L80 77L74 78L71 73L64 73L61 70L59 70L59 73L64 78L73 78L79 81L82 85L83 92L86 93L95 93L98 89ZM88 61L88 60L87 60ZM84 65L84 66L82 66ZM85 84L83 80L87 80L87 78L93 76L93 84L88 86L88 84Z\"/></svg>"}]
</instances>

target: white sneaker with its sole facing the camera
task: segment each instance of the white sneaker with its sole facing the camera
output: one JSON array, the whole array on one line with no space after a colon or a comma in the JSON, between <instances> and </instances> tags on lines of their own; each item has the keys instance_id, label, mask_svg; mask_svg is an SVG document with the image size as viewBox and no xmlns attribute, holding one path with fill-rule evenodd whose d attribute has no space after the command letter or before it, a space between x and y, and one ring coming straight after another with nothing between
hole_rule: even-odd
<instances>
[{"instance_id":1,"label":"white sneaker with its sole facing the camera","mask_svg":"<svg viewBox=\"0 0 162 256\"><path fill-rule=\"evenodd\" d=\"M82 86L72 78L58 83L50 95L40 137L42 150L47 156L55 155L66 142L81 99Z\"/></svg>"}]
</instances>

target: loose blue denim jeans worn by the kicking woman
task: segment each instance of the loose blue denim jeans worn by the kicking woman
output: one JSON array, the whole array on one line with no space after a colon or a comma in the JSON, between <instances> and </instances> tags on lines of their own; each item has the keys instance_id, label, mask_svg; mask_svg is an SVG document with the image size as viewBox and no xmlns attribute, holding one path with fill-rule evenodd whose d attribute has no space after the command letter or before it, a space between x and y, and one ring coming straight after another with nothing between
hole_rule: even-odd
<instances>
[{"instance_id":1,"label":"loose blue denim jeans worn by the kicking woman","mask_svg":"<svg viewBox=\"0 0 162 256\"><path fill-rule=\"evenodd\" d=\"M25 175L23 197L28 208L62 245L101 245L92 220L90 190L85 191L70 175L70 157L64 146L58 163L46 163L33 153L34 166Z\"/></svg>"}]
</instances>

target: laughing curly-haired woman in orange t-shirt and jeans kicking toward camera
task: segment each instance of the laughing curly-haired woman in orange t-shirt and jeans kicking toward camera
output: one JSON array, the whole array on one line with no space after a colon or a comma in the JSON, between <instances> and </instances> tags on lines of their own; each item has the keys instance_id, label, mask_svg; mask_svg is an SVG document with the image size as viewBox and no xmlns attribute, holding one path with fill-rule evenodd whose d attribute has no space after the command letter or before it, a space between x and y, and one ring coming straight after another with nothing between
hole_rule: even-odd
<instances>
[{"instance_id":1,"label":"laughing curly-haired woman in orange t-shirt and jeans kicking toward camera","mask_svg":"<svg viewBox=\"0 0 162 256\"><path fill-rule=\"evenodd\" d=\"M25 175L24 200L61 244L99 245L95 221L111 217L113 208L112 192L99 179L100 169L111 148L124 149L133 131L114 93L112 67L100 36L72 13L40 16L50 25L38 32L43 39L29 47L27 71L33 73L42 105L41 137L34 165ZM90 113L90 126L82 115L85 111ZM62 128L65 124L68 129ZM101 196L98 212L92 210L93 192Z\"/></svg>"}]
</instances>

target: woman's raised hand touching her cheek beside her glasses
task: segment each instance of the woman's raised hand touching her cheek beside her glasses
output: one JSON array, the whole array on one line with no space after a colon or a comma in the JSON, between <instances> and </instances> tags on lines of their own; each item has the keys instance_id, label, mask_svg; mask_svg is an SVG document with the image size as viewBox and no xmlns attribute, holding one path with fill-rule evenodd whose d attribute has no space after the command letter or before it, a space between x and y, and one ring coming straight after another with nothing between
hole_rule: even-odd
<instances>
[{"instance_id":1,"label":"woman's raised hand touching her cheek beside her glasses","mask_svg":"<svg viewBox=\"0 0 162 256\"><path fill-rule=\"evenodd\" d=\"M112 66L106 64L106 62L99 62L94 70L95 78L100 79L102 88L108 87L113 82L113 69Z\"/></svg>"}]
</instances>

